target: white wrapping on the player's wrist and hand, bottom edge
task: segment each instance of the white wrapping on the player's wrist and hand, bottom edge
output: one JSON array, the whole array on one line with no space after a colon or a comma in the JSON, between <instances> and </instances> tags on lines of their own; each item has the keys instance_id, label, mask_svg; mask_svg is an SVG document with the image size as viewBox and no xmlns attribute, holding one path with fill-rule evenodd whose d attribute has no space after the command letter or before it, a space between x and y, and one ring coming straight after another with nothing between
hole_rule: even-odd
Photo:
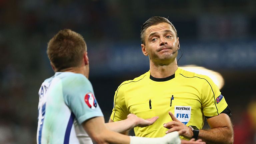
<instances>
[{"instance_id":1,"label":"white wrapping on the player's wrist and hand, bottom edge","mask_svg":"<svg viewBox=\"0 0 256 144\"><path fill-rule=\"evenodd\" d=\"M177 131L159 138L145 138L130 136L130 144L180 144L181 140Z\"/></svg>"}]
</instances>

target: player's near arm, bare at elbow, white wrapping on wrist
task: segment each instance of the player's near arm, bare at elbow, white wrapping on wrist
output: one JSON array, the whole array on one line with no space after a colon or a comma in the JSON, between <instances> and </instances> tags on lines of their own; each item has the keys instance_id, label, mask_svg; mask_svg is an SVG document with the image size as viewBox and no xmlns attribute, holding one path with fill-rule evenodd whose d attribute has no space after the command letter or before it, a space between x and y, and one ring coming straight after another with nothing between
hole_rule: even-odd
<instances>
[{"instance_id":1,"label":"player's near arm, bare at elbow, white wrapping on wrist","mask_svg":"<svg viewBox=\"0 0 256 144\"><path fill-rule=\"evenodd\" d=\"M180 144L179 134L184 132L173 132L161 138L126 136L108 130L104 124L103 117L94 117L86 120L82 123L82 126L96 144Z\"/></svg>"}]
</instances>

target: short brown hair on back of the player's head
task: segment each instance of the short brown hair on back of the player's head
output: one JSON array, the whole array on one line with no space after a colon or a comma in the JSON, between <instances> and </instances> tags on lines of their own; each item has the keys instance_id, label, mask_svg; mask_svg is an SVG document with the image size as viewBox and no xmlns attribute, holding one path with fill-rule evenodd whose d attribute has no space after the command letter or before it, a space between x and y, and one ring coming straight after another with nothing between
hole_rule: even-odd
<instances>
[{"instance_id":1,"label":"short brown hair on back of the player's head","mask_svg":"<svg viewBox=\"0 0 256 144\"><path fill-rule=\"evenodd\" d=\"M60 30L49 42L47 55L57 71L78 67L87 51L84 38L70 30Z\"/></svg>"}]
</instances>

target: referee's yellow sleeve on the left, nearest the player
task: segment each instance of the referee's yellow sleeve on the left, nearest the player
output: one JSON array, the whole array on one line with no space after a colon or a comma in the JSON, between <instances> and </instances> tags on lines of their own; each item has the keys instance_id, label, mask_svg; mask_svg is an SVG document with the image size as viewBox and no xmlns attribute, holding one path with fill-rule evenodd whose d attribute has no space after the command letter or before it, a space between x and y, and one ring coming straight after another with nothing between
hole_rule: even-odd
<instances>
[{"instance_id":1,"label":"referee's yellow sleeve on the left, nearest the player","mask_svg":"<svg viewBox=\"0 0 256 144\"><path fill-rule=\"evenodd\" d=\"M110 118L113 121L120 121L127 118L129 114L125 103L125 92L122 84L117 88L114 96L114 107Z\"/></svg>"}]
</instances>

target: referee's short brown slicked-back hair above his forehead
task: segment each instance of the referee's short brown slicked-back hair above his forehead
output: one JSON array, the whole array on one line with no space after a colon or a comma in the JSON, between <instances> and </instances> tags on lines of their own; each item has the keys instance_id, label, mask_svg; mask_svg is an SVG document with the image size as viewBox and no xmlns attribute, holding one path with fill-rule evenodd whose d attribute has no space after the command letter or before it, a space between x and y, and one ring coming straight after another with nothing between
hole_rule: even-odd
<instances>
[{"instance_id":1,"label":"referee's short brown slicked-back hair above his forehead","mask_svg":"<svg viewBox=\"0 0 256 144\"><path fill-rule=\"evenodd\" d=\"M153 16L151 18L149 18L142 26L141 26L141 31L140 31L140 38L141 38L141 43L145 44L145 31L148 27L153 26L153 25L157 25L159 23L168 23L171 25L171 27L173 28L176 37L177 37L177 30L175 29L174 25L167 19L164 17L160 17L160 16Z\"/></svg>"}]
</instances>

